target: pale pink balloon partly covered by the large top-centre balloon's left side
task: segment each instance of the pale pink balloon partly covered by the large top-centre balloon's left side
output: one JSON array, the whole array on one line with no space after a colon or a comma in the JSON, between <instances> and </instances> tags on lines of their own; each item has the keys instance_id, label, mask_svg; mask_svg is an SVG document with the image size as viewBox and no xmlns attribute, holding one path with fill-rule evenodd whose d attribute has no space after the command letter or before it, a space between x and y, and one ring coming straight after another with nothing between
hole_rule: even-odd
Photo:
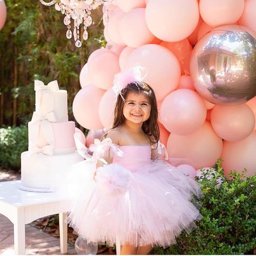
<instances>
[{"instance_id":1,"label":"pale pink balloon partly covered by the large top-centre balloon's left side","mask_svg":"<svg viewBox=\"0 0 256 256\"><path fill-rule=\"evenodd\" d=\"M119 32L122 41L133 48L149 44L154 39L153 34L147 28L145 8L132 9L124 14L120 21Z\"/></svg>"}]
</instances>

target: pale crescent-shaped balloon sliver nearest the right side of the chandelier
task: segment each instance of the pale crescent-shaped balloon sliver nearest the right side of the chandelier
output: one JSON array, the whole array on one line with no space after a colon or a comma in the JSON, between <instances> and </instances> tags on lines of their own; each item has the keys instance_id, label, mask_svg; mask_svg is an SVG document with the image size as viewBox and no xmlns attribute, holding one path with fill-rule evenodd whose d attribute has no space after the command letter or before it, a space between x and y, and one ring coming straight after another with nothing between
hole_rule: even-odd
<instances>
[{"instance_id":1,"label":"pale crescent-shaped balloon sliver nearest the right side of the chandelier","mask_svg":"<svg viewBox=\"0 0 256 256\"><path fill-rule=\"evenodd\" d=\"M119 24L124 14L125 12L123 12L120 8L113 11L113 14L109 18L109 23L107 23L107 33L113 43L125 46L119 32Z\"/></svg>"}]
</instances>

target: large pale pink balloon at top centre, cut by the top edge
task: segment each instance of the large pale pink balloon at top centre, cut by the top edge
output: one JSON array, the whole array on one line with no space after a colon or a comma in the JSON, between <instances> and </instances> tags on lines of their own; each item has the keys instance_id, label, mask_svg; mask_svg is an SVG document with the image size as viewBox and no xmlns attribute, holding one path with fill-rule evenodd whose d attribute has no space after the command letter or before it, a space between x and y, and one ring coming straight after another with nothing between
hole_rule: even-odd
<instances>
[{"instance_id":1,"label":"large pale pink balloon at top centre, cut by the top edge","mask_svg":"<svg viewBox=\"0 0 256 256\"><path fill-rule=\"evenodd\" d=\"M188 37L199 21L196 0L149 0L146 22L154 36L166 42Z\"/></svg>"}]
</instances>

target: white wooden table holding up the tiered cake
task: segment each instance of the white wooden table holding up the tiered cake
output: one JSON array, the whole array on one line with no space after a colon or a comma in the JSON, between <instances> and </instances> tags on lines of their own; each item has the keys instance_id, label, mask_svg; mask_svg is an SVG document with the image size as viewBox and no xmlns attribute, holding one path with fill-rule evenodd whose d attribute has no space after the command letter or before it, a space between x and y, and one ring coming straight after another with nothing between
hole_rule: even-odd
<instances>
[{"instance_id":1,"label":"white wooden table holding up the tiered cake","mask_svg":"<svg viewBox=\"0 0 256 256\"><path fill-rule=\"evenodd\" d=\"M60 252L68 248L68 226L64 219L69 201L55 192L29 192L18 189L21 180L0 182L0 213L14 224L15 254L25 254L25 224L59 214Z\"/></svg>"}]
</instances>

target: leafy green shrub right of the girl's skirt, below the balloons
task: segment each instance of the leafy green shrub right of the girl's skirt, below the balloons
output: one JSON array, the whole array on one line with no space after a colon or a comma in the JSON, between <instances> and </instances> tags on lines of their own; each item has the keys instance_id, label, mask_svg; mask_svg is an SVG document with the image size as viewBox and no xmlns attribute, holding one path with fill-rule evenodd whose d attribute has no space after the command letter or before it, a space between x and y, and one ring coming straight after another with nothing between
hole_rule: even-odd
<instances>
[{"instance_id":1,"label":"leafy green shrub right of the girl's skirt, below the balloons","mask_svg":"<svg viewBox=\"0 0 256 256\"><path fill-rule=\"evenodd\" d=\"M198 228L182 232L177 244L165 250L156 247L152 254L255 254L256 175L245 178L246 170L232 171L227 179L220 164L218 160L215 173L207 170L201 177L204 218ZM213 177L207 179L210 174Z\"/></svg>"}]
</instances>

